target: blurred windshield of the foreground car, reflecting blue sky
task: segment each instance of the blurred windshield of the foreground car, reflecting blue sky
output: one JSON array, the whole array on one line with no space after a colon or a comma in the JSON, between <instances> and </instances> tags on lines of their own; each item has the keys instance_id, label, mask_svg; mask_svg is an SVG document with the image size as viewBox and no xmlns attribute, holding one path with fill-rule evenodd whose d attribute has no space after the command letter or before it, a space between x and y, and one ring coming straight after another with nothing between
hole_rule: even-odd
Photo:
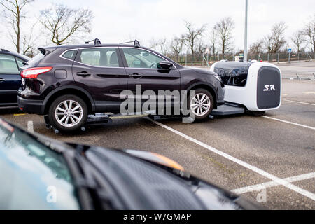
<instances>
[{"instance_id":1,"label":"blurred windshield of the foreground car, reflecting blue sky","mask_svg":"<svg viewBox=\"0 0 315 224\"><path fill-rule=\"evenodd\" d=\"M80 209L60 153L0 119L0 209Z\"/></svg>"}]
</instances>

